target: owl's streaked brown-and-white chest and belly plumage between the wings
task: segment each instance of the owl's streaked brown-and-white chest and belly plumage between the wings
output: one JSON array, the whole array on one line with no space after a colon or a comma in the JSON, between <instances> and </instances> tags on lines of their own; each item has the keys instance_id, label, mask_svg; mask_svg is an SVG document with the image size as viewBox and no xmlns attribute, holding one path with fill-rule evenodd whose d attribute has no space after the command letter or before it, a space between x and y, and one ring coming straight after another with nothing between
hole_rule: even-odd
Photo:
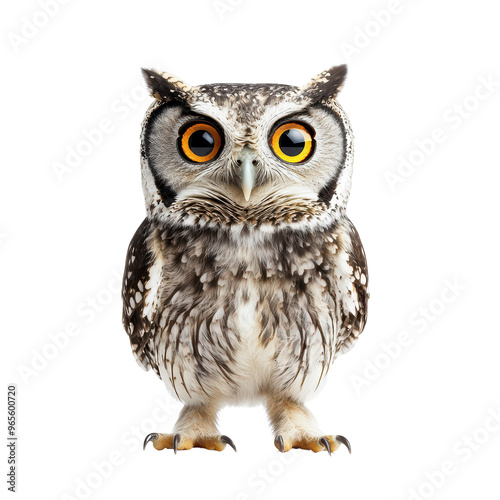
<instances>
[{"instance_id":1,"label":"owl's streaked brown-and-white chest and belly plumage between the wings","mask_svg":"<svg viewBox=\"0 0 500 500\"><path fill-rule=\"evenodd\" d=\"M334 225L163 225L152 234L161 277L148 348L176 396L253 400L276 388L291 397L317 389L337 352L339 312L357 307L340 296L347 271Z\"/></svg>"}]
</instances>

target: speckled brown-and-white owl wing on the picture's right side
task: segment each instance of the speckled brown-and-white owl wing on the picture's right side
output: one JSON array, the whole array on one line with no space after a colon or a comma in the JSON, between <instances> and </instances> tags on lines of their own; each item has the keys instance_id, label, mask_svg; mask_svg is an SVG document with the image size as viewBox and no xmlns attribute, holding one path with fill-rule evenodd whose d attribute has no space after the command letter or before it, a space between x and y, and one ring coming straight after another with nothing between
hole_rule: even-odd
<instances>
[{"instance_id":1,"label":"speckled brown-and-white owl wing on the picture's right side","mask_svg":"<svg viewBox=\"0 0 500 500\"><path fill-rule=\"evenodd\" d=\"M337 342L335 357L349 351L365 328L368 315L368 266L363 244L354 224L344 217L338 231Z\"/></svg>"}]
</instances>

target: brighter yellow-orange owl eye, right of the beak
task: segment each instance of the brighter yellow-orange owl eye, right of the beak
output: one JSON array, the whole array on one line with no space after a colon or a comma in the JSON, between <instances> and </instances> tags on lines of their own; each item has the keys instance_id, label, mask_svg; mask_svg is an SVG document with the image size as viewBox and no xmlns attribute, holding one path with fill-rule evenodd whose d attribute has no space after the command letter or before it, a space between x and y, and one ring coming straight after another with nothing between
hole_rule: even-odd
<instances>
[{"instance_id":1,"label":"brighter yellow-orange owl eye, right of the beak","mask_svg":"<svg viewBox=\"0 0 500 500\"><path fill-rule=\"evenodd\" d=\"M311 156L313 137L314 130L304 123L284 123L271 134L271 149L278 158L288 163L300 163Z\"/></svg>"}]
</instances>

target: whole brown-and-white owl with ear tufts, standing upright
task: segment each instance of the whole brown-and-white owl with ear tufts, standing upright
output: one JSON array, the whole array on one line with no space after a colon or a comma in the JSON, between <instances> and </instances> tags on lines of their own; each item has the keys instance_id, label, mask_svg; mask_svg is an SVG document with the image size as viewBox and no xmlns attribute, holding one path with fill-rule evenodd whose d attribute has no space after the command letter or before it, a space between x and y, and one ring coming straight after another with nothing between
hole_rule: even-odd
<instances>
[{"instance_id":1,"label":"whole brown-and-white owl with ear tufts, standing upright","mask_svg":"<svg viewBox=\"0 0 500 500\"><path fill-rule=\"evenodd\" d=\"M139 364L183 404L157 450L236 450L217 414L263 404L281 452L332 453L305 402L363 331L368 273L346 215L346 66L303 87L189 86L143 70L146 218L128 248L123 324Z\"/></svg>"}]
</instances>

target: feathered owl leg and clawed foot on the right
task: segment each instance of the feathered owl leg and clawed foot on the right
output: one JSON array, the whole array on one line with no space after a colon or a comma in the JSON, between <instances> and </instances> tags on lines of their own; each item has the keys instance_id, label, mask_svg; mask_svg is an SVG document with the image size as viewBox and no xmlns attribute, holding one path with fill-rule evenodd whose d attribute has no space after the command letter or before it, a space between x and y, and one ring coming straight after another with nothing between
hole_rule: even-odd
<instances>
[{"instance_id":1,"label":"feathered owl leg and clawed foot on the right","mask_svg":"<svg viewBox=\"0 0 500 500\"><path fill-rule=\"evenodd\" d=\"M313 414L301 403L290 399L269 400L267 412L275 433L274 445L282 453L300 448L331 454L342 444L351 452L344 436L323 435Z\"/></svg>"}]
</instances>

